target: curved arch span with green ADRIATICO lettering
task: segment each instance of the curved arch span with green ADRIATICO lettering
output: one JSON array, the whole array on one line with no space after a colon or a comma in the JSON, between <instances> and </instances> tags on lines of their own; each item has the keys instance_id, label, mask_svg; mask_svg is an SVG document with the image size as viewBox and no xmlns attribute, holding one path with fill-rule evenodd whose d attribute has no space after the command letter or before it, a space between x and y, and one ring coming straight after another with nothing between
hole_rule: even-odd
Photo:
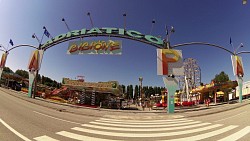
<instances>
[{"instance_id":1,"label":"curved arch span with green ADRIATICO lettering","mask_svg":"<svg viewBox=\"0 0 250 141\"><path fill-rule=\"evenodd\" d=\"M143 42L143 43L155 46L157 48L164 47L163 39L152 36L152 35L143 35L142 33L135 31L135 30L125 30L123 28L111 28L111 27L103 27L103 28L95 27L92 29L83 28L81 30L73 30L68 33L60 34L48 40L46 43L42 44L40 49L46 50L59 43L77 39L77 38L96 37L96 36L126 38L126 39Z\"/></svg>"}]
</instances>

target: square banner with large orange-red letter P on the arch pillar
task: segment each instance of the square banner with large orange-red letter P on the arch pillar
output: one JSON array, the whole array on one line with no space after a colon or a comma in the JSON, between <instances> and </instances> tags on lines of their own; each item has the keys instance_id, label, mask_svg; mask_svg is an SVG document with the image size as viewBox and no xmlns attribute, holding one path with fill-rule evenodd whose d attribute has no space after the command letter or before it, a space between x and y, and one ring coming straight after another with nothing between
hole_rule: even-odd
<instances>
[{"instance_id":1,"label":"square banner with large orange-red letter P on the arch pillar","mask_svg":"<svg viewBox=\"0 0 250 141\"><path fill-rule=\"evenodd\" d=\"M157 49L158 75L184 75L181 50Z\"/></svg>"}]
</instances>

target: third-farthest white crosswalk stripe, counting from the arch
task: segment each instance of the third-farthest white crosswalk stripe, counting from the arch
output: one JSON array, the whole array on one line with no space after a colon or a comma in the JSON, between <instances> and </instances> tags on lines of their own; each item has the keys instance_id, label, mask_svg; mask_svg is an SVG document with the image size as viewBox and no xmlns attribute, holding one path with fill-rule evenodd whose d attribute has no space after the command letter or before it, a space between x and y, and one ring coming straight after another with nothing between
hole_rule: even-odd
<instances>
[{"instance_id":1,"label":"third-farthest white crosswalk stripe, counting from the arch","mask_svg":"<svg viewBox=\"0 0 250 141\"><path fill-rule=\"evenodd\" d=\"M191 125L191 124L199 124L201 121L193 121L193 122L185 122L185 123L177 123L177 124L166 124L162 123L161 125L128 125L128 124L112 124L112 123L102 123L102 122L89 122L90 124L98 124L98 125L104 125L104 126L116 126L116 127L130 127L130 128L136 128L136 127L173 127L173 126L184 126L184 125Z\"/></svg>"}]
</instances>

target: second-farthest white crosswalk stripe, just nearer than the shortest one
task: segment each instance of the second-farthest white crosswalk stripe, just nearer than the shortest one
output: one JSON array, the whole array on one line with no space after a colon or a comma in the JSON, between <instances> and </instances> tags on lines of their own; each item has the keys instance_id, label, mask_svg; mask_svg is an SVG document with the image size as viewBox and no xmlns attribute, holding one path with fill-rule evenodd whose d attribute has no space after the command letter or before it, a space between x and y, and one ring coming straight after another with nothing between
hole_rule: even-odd
<instances>
[{"instance_id":1,"label":"second-farthest white crosswalk stripe, just nearer than the shortest one","mask_svg":"<svg viewBox=\"0 0 250 141\"><path fill-rule=\"evenodd\" d=\"M181 121L167 121L167 122L138 122L138 123L136 123L136 122L126 122L126 121L123 121L123 122L119 122L119 121L107 121L107 120L95 120L96 122L105 122L105 123L116 123L116 124L126 124L126 125L128 125L128 124L131 124L131 125L133 125L133 124L136 124L136 125L138 125L138 124L143 124L143 125L146 125L146 124L154 124L154 125L157 125L157 124L173 124L173 123L183 123L183 122L191 122L191 121L193 121L193 120L181 120Z\"/></svg>"}]
</instances>

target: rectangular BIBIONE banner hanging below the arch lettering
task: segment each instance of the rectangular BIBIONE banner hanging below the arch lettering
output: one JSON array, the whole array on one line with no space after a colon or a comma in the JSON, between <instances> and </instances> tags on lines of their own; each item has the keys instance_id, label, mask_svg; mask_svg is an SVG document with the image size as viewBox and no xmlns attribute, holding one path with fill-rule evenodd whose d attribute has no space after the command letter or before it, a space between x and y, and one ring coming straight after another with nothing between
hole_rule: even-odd
<instances>
[{"instance_id":1,"label":"rectangular BIBIONE banner hanging below the arch lettering","mask_svg":"<svg viewBox=\"0 0 250 141\"><path fill-rule=\"evenodd\" d=\"M67 54L121 55L122 41L73 41L69 42Z\"/></svg>"}]
</instances>

